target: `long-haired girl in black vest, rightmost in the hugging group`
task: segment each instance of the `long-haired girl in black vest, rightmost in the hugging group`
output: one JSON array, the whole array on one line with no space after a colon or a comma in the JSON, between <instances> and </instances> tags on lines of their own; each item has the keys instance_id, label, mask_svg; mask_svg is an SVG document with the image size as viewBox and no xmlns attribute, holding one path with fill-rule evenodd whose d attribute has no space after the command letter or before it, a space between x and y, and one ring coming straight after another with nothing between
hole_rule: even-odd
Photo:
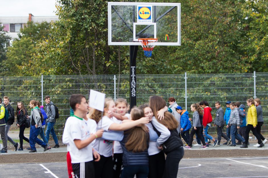
<instances>
[{"instance_id":1,"label":"long-haired girl in black vest, rightmost in the hugging group","mask_svg":"<svg viewBox=\"0 0 268 178\"><path fill-rule=\"evenodd\" d=\"M166 106L166 102L159 96L151 96L149 99L149 105L153 110L154 116L157 116L157 112ZM162 134L161 130L156 127L158 123L161 123L168 128L170 131L170 136L164 136ZM178 121L170 112L165 112L164 119L160 120L156 117L153 117L152 124L154 130L159 135L157 145L159 145L159 148L163 148L165 154L167 154L163 178L176 178L179 162L184 155L184 150L182 147L183 143L180 140L177 131Z\"/></svg>"}]
</instances>

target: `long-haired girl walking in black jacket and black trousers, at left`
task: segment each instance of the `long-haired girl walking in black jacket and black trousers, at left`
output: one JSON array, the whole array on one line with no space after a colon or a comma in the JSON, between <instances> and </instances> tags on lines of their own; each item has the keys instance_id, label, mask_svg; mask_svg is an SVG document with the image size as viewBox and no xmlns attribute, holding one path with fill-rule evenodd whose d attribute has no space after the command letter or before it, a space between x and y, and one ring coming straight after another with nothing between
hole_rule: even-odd
<instances>
[{"instance_id":1,"label":"long-haired girl walking in black jacket and black trousers, at left","mask_svg":"<svg viewBox=\"0 0 268 178\"><path fill-rule=\"evenodd\" d=\"M24 130L26 128L25 122L27 120L27 110L22 102L17 103L16 117L17 117L17 126L20 129L19 138L20 138L20 148L18 151L23 151L23 140L30 143L29 139L24 136Z\"/></svg>"}]
</instances>

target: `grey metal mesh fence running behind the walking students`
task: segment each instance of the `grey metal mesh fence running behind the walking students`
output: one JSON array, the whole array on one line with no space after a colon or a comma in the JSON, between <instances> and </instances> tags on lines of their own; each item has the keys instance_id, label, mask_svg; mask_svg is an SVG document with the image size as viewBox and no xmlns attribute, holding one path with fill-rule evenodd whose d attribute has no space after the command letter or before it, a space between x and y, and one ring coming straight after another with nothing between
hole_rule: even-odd
<instances>
[{"instance_id":1,"label":"grey metal mesh fence running behind the walking students","mask_svg":"<svg viewBox=\"0 0 268 178\"><path fill-rule=\"evenodd\" d=\"M255 80L255 81L254 81ZM70 115L68 99L72 94L82 94L89 98L90 89L106 94L113 99L125 98L129 102L128 75L98 75L98 76L40 76L40 77L0 77L1 97L8 96L11 106L16 110L16 104L22 101L27 110L32 99L42 101L46 95L58 106L60 118L55 124L55 132L62 144L64 123ZM159 95L167 102L174 97L178 105L190 111L190 105L202 100L212 107L212 117L215 118L214 103L219 101L225 110L225 102L239 101L246 106L246 100L251 97L261 99L264 124L261 133L268 136L268 73L254 74L184 74L184 75L137 75L137 105L149 102L149 97ZM168 104L168 103L167 103ZM246 106L246 110L247 110ZM30 114L30 111L29 111ZM214 121L214 120L213 120ZM224 130L225 131L225 130ZM211 127L210 135L217 137L216 127ZM9 137L19 142L19 128L15 123L11 126ZM25 130L29 137L29 129ZM253 135L250 135L253 137ZM1 141L0 141L1 142ZM52 137L49 143L54 144ZM12 146L8 142L9 146ZM29 145L24 143L25 146Z\"/></svg>"}]
</instances>

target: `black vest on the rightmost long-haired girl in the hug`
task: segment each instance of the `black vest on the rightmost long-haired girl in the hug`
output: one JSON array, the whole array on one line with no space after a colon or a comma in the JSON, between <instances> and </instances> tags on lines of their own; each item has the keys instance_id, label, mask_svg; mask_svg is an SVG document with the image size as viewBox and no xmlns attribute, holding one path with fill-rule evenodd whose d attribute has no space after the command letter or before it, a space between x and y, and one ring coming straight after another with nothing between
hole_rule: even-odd
<instances>
[{"instance_id":1,"label":"black vest on the rightmost long-haired girl in the hug","mask_svg":"<svg viewBox=\"0 0 268 178\"><path fill-rule=\"evenodd\" d=\"M161 135L161 133L155 128L154 125L153 125L153 129L155 130L158 136ZM183 143L180 139L177 129L169 130L169 131L170 131L169 138L167 139L167 141L165 141L164 144L162 144L163 151L165 152L165 154L168 154L169 152L172 152L173 150L176 150L183 146Z\"/></svg>"}]
</instances>

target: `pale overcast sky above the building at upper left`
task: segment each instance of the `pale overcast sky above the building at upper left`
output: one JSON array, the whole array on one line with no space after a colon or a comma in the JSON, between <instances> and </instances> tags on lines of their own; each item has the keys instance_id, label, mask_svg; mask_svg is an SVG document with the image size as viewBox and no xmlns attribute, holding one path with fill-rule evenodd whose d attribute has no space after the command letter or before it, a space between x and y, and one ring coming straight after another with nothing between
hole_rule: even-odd
<instances>
[{"instance_id":1,"label":"pale overcast sky above the building at upper left","mask_svg":"<svg viewBox=\"0 0 268 178\"><path fill-rule=\"evenodd\" d=\"M0 17L55 16L56 0L0 0Z\"/></svg>"}]
</instances>

